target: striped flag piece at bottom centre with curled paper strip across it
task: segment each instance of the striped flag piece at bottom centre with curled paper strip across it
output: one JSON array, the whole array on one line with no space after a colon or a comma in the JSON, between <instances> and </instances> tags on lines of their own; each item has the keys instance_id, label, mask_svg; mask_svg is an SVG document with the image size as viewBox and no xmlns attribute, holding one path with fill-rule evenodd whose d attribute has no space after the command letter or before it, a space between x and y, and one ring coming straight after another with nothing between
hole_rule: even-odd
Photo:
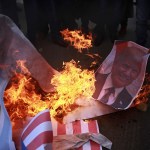
<instances>
[{"instance_id":1,"label":"striped flag piece at bottom centre with curled paper strip across it","mask_svg":"<svg viewBox=\"0 0 150 150\"><path fill-rule=\"evenodd\" d=\"M106 137L99 134L96 120L76 121L68 124L60 124L52 120L53 148L54 149L102 149L101 146L111 149L112 143Z\"/></svg>"}]
</instances>

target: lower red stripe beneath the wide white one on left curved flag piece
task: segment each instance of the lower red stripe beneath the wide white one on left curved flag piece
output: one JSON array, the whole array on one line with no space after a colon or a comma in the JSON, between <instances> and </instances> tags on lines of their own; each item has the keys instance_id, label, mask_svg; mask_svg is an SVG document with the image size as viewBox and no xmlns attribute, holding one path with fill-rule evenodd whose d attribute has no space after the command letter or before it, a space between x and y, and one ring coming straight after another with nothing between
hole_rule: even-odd
<instances>
[{"instance_id":1,"label":"lower red stripe beneath the wide white one on left curved flag piece","mask_svg":"<svg viewBox=\"0 0 150 150\"><path fill-rule=\"evenodd\" d=\"M53 141L53 132L45 131L36 136L36 138L27 146L29 150L35 150L43 144L52 143Z\"/></svg>"}]
</instances>

